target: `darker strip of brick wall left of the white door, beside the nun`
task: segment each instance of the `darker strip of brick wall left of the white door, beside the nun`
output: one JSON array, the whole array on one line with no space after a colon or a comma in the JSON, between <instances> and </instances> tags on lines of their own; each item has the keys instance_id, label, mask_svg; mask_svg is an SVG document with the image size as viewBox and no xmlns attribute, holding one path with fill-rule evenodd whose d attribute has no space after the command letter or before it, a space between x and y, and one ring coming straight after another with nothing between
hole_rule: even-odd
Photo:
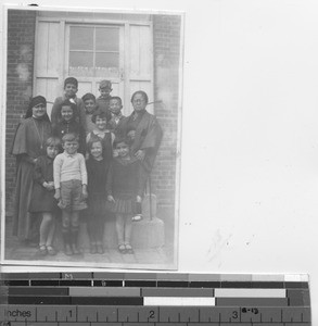
<instances>
[{"instance_id":1,"label":"darker strip of brick wall left of the white door, beside the nun","mask_svg":"<svg viewBox=\"0 0 318 326\"><path fill-rule=\"evenodd\" d=\"M25 113L33 88L36 12L8 12L8 72L7 72L7 153L21 116ZM15 160L5 159L7 214L12 212Z\"/></svg>"}]
</instances>

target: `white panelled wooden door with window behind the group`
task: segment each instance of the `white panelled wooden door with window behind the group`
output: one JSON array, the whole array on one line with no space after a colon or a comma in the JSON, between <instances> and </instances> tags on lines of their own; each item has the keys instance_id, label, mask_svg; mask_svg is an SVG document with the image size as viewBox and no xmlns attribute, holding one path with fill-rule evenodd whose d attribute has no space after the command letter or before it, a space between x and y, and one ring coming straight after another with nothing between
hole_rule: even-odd
<instances>
[{"instance_id":1,"label":"white panelled wooden door with window behind the group","mask_svg":"<svg viewBox=\"0 0 318 326\"><path fill-rule=\"evenodd\" d=\"M152 23L39 17L36 28L34 96L48 100L63 93L64 79L78 79L77 96L99 96L99 83L109 79L113 96L123 100L123 113L132 111L130 97L142 89L153 100ZM153 105L148 110L153 111Z\"/></svg>"}]
</instances>

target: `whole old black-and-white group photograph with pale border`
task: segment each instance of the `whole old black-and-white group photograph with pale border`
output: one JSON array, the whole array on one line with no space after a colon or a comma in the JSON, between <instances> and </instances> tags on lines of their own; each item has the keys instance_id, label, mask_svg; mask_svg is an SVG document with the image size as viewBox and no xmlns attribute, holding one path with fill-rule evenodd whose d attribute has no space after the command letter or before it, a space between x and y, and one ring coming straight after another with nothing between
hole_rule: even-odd
<instances>
[{"instance_id":1,"label":"whole old black-and-white group photograph with pale border","mask_svg":"<svg viewBox=\"0 0 318 326\"><path fill-rule=\"evenodd\" d=\"M176 269L183 13L5 20L2 264Z\"/></svg>"}]
</instances>

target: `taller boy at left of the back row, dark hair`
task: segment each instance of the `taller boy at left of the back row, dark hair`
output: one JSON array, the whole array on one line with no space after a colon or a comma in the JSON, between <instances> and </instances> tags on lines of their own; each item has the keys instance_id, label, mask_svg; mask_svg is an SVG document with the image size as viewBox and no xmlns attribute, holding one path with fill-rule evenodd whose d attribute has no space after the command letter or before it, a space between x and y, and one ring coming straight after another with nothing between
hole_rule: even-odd
<instances>
[{"instance_id":1,"label":"taller boy at left of the back row, dark hair","mask_svg":"<svg viewBox=\"0 0 318 326\"><path fill-rule=\"evenodd\" d=\"M76 97L78 91L78 82L74 77L68 77L64 80L64 96L55 99L51 111L51 123L54 125L58 123L60 117L61 104L65 100L69 100L76 104L76 110L74 112L75 120L82 126L86 130L86 114L85 106L81 99Z\"/></svg>"}]
</instances>

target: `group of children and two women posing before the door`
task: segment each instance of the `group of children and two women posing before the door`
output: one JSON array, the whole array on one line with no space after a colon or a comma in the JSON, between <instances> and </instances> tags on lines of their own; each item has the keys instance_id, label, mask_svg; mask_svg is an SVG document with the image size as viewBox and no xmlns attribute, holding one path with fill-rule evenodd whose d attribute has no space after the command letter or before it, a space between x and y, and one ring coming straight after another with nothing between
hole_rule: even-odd
<instances>
[{"instance_id":1,"label":"group of children and two women posing before the door","mask_svg":"<svg viewBox=\"0 0 318 326\"><path fill-rule=\"evenodd\" d=\"M141 201L161 140L162 128L145 108L148 95L131 96L133 112L122 113L112 83L100 83L100 96L76 97L78 82L64 80L51 117L47 100L30 100L18 124L11 153L16 158L13 235L31 237L35 215L39 252L54 255L55 220L62 216L66 255L78 254L79 216L85 215L90 252L103 253L104 222L115 214L118 251L133 253L132 221L141 218ZM115 231L115 230L114 230Z\"/></svg>"}]
</instances>

